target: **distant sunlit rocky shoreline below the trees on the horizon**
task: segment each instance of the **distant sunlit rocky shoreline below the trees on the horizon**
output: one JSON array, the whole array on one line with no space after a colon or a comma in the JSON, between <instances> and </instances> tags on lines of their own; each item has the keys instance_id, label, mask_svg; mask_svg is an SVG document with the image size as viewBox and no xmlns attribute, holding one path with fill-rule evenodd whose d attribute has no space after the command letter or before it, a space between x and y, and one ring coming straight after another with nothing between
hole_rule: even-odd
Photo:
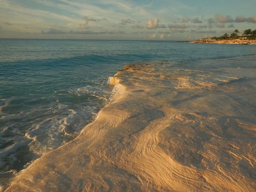
<instances>
[{"instance_id":1,"label":"distant sunlit rocky shoreline below the trees on the horizon","mask_svg":"<svg viewBox=\"0 0 256 192\"><path fill-rule=\"evenodd\" d=\"M235 45L256 45L256 39L213 39L202 38L188 43L218 43L218 44L235 44Z\"/></svg>"}]
</instances>

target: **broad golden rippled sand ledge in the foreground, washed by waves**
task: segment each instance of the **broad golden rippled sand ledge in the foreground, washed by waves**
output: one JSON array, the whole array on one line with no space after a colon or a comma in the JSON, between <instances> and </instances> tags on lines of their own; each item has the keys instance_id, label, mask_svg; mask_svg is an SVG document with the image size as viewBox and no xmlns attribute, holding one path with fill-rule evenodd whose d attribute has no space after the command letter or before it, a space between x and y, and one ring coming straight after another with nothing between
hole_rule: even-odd
<instances>
[{"instance_id":1,"label":"broad golden rippled sand ledge in the foreground, washed by waves","mask_svg":"<svg viewBox=\"0 0 256 192\"><path fill-rule=\"evenodd\" d=\"M73 141L6 191L254 191L256 68L125 66Z\"/></svg>"}]
</instances>

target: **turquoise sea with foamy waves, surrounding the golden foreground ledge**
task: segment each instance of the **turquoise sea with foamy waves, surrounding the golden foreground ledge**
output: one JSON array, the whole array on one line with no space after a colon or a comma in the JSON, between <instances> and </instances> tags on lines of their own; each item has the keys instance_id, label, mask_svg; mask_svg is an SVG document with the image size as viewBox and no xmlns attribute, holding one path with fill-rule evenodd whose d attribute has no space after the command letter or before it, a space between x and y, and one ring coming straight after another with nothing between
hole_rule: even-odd
<instances>
[{"instance_id":1,"label":"turquoise sea with foamy waves, surrounding the golden foreground ledge","mask_svg":"<svg viewBox=\"0 0 256 192\"><path fill-rule=\"evenodd\" d=\"M111 98L108 77L125 64L246 68L255 54L255 45L0 39L0 183L92 122Z\"/></svg>"}]
</instances>

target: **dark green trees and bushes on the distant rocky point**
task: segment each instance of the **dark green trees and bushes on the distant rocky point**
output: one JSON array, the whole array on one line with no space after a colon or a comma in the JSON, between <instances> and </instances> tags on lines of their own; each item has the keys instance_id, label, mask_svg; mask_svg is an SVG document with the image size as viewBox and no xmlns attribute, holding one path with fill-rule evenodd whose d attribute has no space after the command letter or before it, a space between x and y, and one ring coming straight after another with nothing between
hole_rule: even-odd
<instances>
[{"instance_id":1,"label":"dark green trees and bushes on the distant rocky point","mask_svg":"<svg viewBox=\"0 0 256 192\"><path fill-rule=\"evenodd\" d=\"M246 29L244 30L244 33L242 35L238 35L239 31L238 29L234 30L232 34L225 33L224 35L220 37L213 37L213 39L217 40L223 40L223 39L256 39L256 29Z\"/></svg>"}]
</instances>

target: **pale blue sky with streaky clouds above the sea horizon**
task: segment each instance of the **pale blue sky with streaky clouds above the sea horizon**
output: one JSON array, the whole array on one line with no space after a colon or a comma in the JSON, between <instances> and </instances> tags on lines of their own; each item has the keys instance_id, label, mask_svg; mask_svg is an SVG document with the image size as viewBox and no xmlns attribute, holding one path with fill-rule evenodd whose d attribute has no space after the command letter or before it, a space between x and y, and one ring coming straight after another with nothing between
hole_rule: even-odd
<instances>
[{"instance_id":1,"label":"pale blue sky with streaky clouds above the sea horizon","mask_svg":"<svg viewBox=\"0 0 256 192\"><path fill-rule=\"evenodd\" d=\"M0 0L0 38L190 40L256 29L255 0Z\"/></svg>"}]
</instances>

